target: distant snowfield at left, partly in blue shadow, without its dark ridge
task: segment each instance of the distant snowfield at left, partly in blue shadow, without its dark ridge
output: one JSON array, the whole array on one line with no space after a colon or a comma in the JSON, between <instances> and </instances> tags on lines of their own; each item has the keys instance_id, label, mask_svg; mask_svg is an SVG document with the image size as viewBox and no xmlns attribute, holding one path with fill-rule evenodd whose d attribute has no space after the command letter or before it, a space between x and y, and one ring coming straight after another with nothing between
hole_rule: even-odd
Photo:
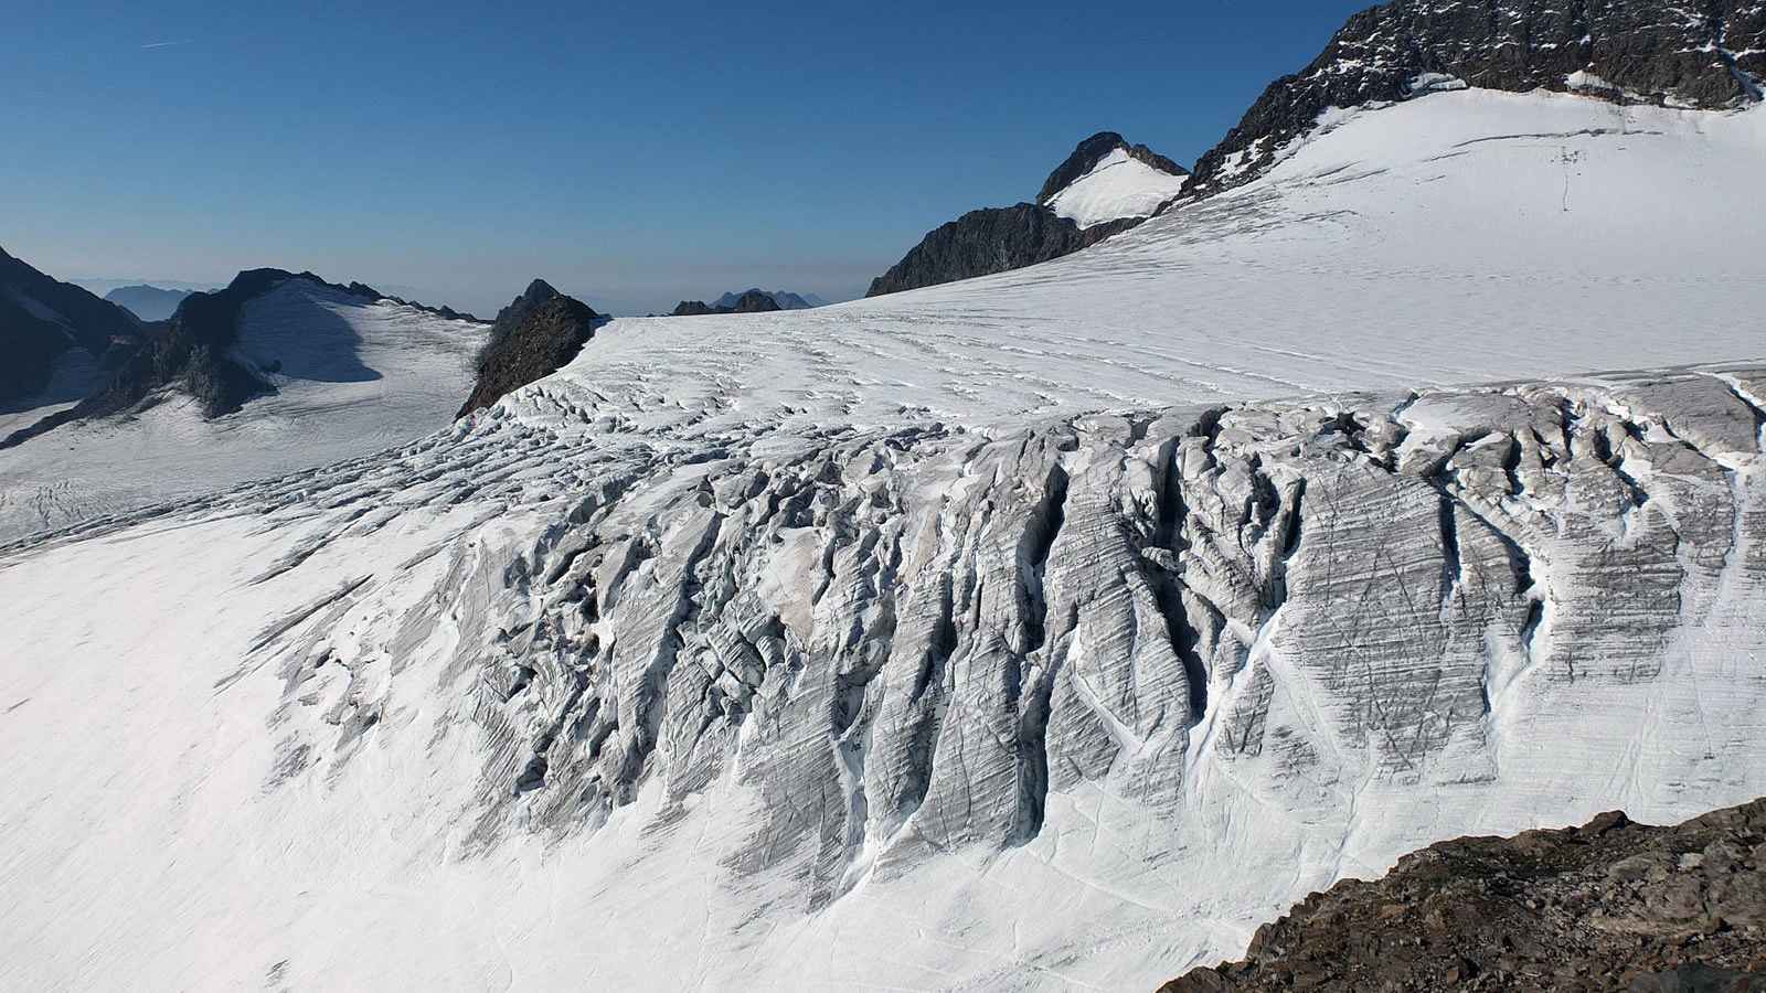
<instances>
[{"instance_id":1,"label":"distant snowfield at left, partly in blue shadow, without its dark ridge","mask_svg":"<svg viewBox=\"0 0 1766 993\"><path fill-rule=\"evenodd\" d=\"M0 541L436 431L472 390L484 334L473 322L290 279L245 304L235 346L274 394L210 421L191 398L168 392L136 413L0 451Z\"/></svg>"}]
</instances>

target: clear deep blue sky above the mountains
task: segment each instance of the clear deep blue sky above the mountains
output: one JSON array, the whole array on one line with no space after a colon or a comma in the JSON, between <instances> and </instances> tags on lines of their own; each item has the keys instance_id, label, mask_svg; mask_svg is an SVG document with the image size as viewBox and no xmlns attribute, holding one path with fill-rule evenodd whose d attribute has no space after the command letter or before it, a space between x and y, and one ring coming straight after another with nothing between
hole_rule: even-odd
<instances>
[{"instance_id":1,"label":"clear deep blue sky above the mountains","mask_svg":"<svg viewBox=\"0 0 1766 993\"><path fill-rule=\"evenodd\" d=\"M0 246L480 313L848 299L1093 131L1192 163L1365 5L0 4Z\"/></svg>"}]
</instances>

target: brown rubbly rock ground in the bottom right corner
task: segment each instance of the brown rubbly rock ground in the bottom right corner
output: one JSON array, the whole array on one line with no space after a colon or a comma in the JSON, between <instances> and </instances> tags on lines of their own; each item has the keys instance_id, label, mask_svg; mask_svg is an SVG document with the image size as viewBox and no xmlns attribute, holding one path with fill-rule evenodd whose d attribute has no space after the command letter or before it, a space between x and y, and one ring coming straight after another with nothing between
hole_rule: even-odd
<instances>
[{"instance_id":1,"label":"brown rubbly rock ground in the bottom right corner","mask_svg":"<svg viewBox=\"0 0 1766 993\"><path fill-rule=\"evenodd\" d=\"M1432 845L1160 993L1263 989L1766 991L1766 800Z\"/></svg>"}]
</instances>

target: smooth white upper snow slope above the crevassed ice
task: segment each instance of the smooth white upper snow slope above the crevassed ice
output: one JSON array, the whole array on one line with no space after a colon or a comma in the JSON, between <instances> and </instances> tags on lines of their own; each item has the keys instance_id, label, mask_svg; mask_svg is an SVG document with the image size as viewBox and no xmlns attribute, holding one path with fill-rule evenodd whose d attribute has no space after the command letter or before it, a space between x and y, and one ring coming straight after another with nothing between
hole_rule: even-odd
<instances>
[{"instance_id":1,"label":"smooth white upper snow slope above the crevassed ice","mask_svg":"<svg viewBox=\"0 0 1766 993\"><path fill-rule=\"evenodd\" d=\"M1755 359L1766 111L1432 94L1044 265L811 313L622 320L609 396L1017 421Z\"/></svg>"}]
</instances>

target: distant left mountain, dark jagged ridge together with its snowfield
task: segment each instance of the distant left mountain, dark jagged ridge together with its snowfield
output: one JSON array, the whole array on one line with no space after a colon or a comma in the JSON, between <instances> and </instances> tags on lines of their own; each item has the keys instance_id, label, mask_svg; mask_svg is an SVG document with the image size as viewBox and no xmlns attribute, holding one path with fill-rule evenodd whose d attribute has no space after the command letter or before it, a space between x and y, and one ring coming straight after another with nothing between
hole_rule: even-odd
<instances>
[{"instance_id":1,"label":"distant left mountain, dark jagged ridge together with its snowfield","mask_svg":"<svg viewBox=\"0 0 1766 993\"><path fill-rule=\"evenodd\" d=\"M0 541L443 428L486 337L466 315L279 269L245 270L147 325L85 290L65 293L57 313L69 334L95 345L120 330L102 362L85 346L58 360L65 390L0 415ZM14 329L0 323L9 350Z\"/></svg>"}]
</instances>

